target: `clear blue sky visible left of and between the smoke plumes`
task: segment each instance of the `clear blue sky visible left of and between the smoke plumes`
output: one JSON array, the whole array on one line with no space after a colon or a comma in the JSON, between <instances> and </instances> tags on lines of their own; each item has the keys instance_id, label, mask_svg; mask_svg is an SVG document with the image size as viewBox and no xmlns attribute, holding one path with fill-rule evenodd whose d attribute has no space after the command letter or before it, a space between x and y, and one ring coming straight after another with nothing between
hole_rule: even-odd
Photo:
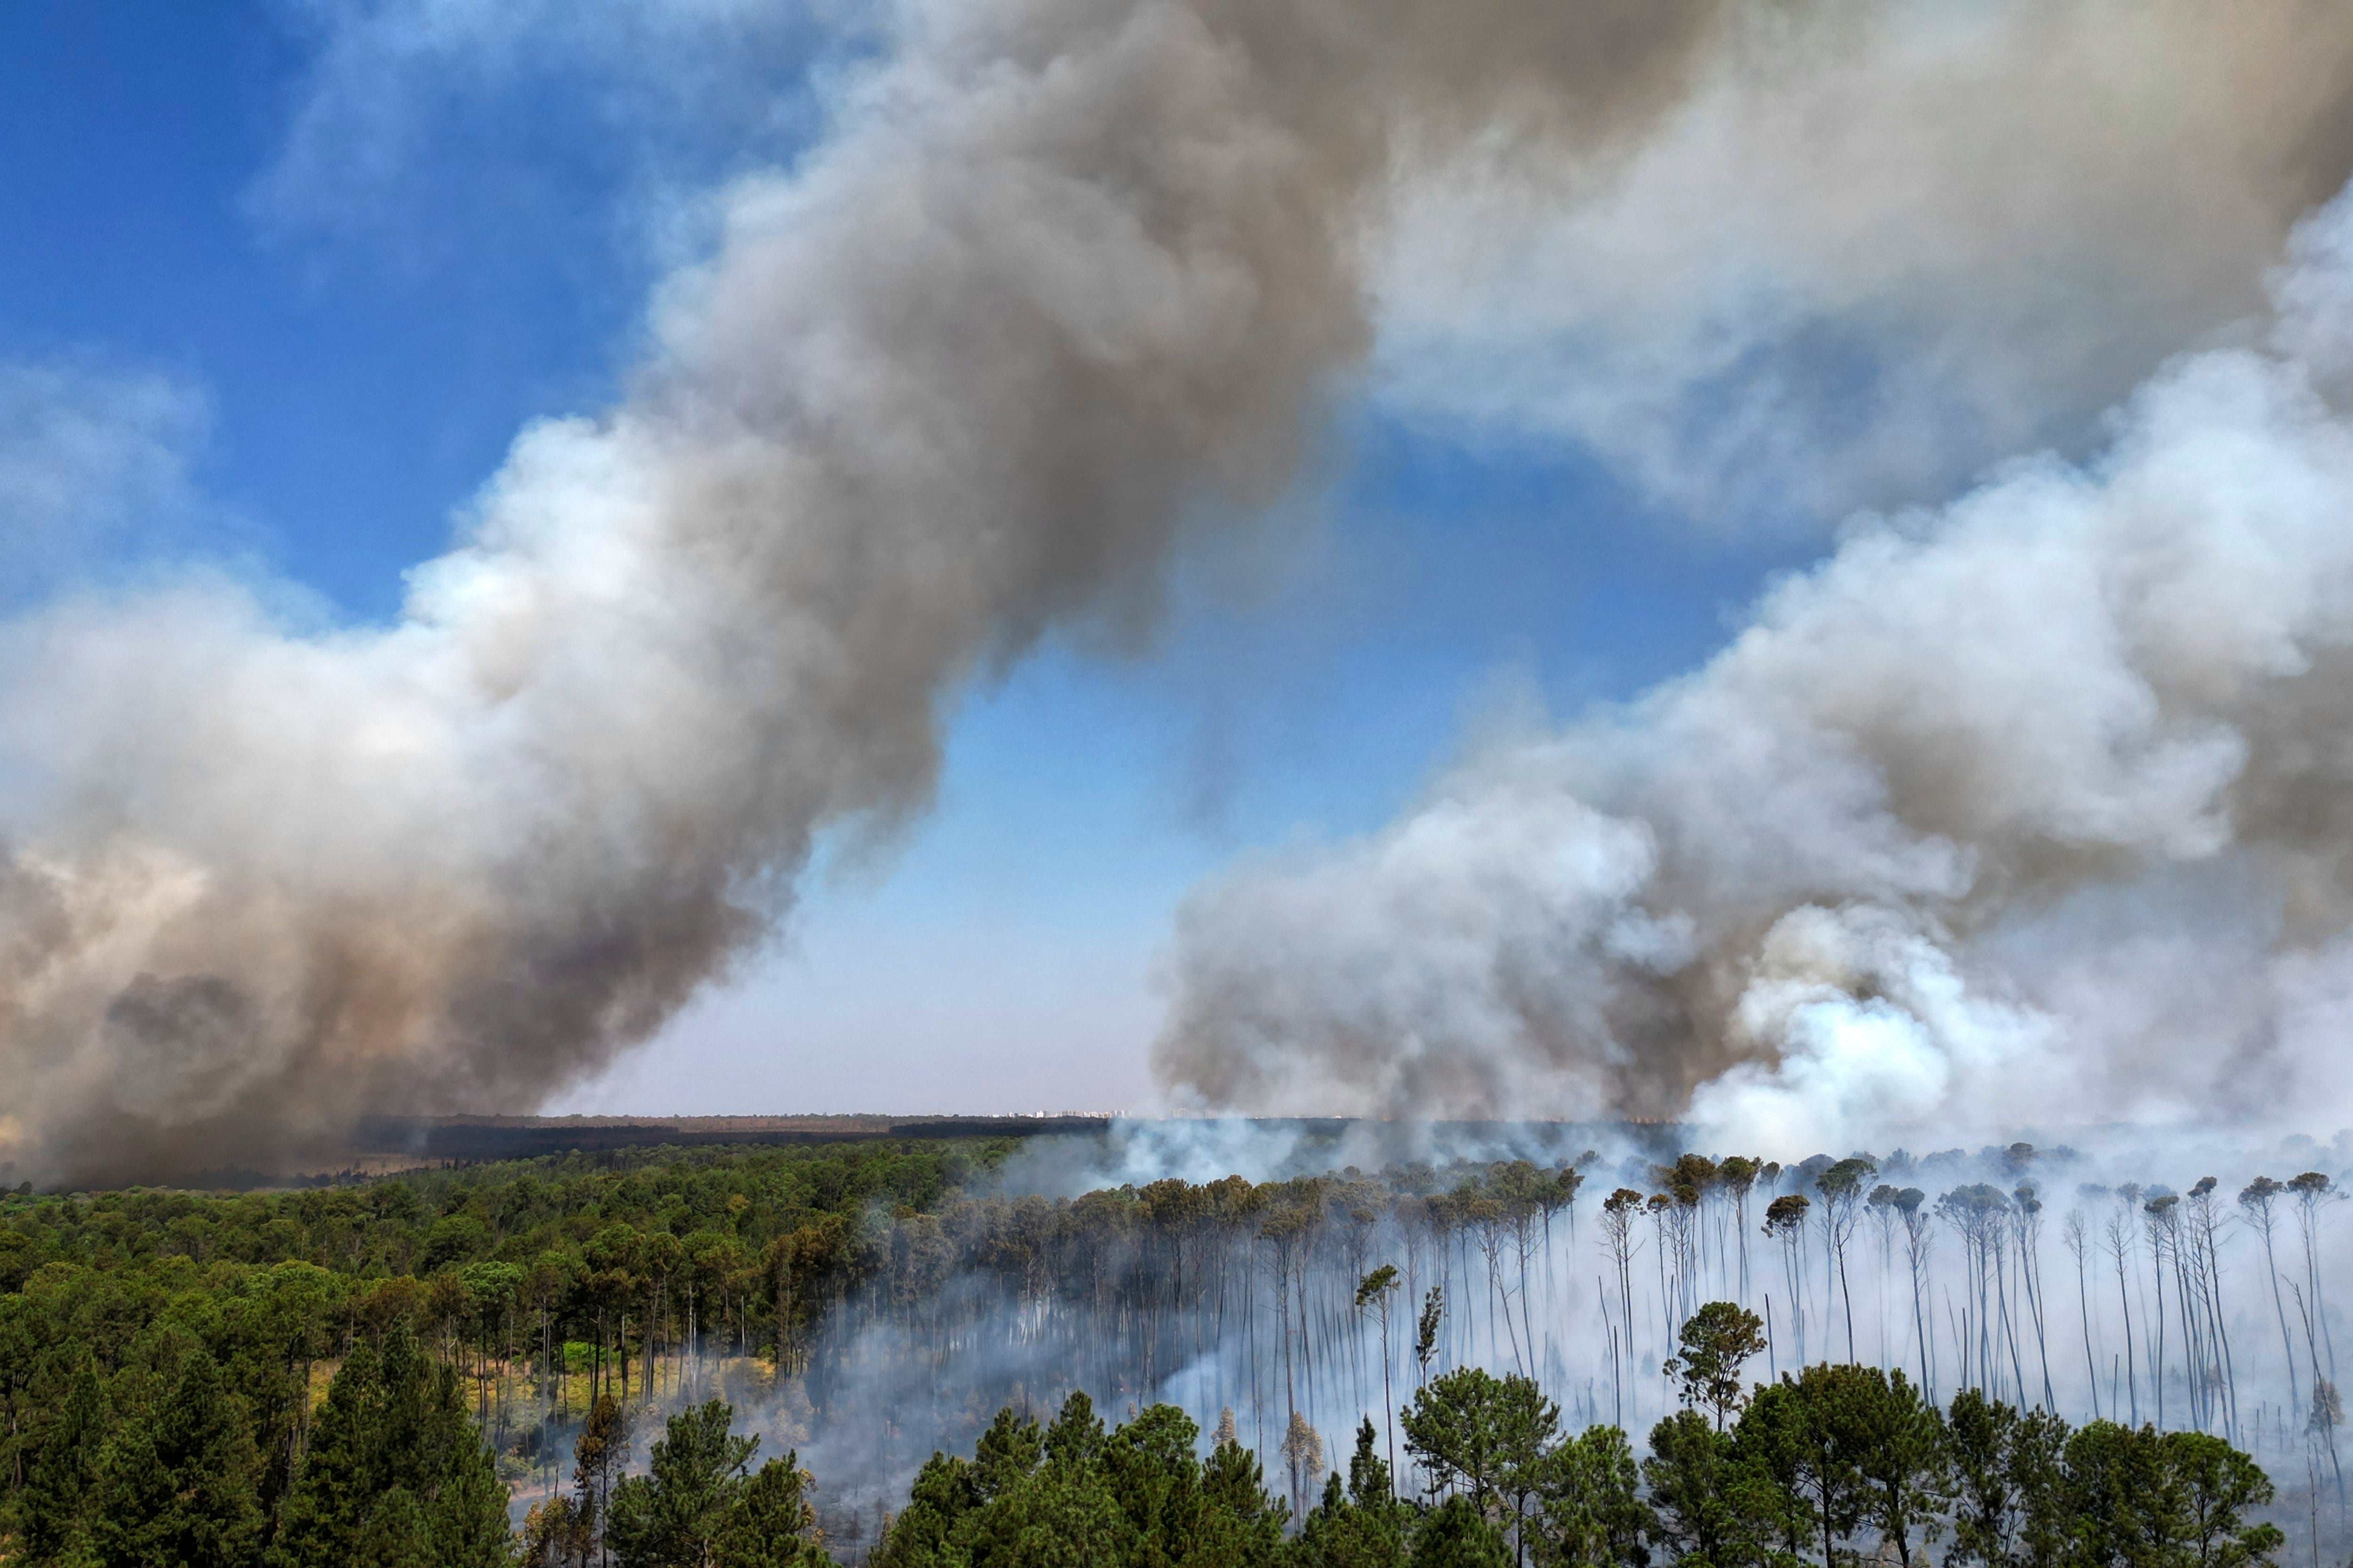
<instances>
[{"instance_id":1,"label":"clear blue sky visible left of and between the smoke plumes","mask_svg":"<svg viewBox=\"0 0 2353 1568\"><path fill-rule=\"evenodd\" d=\"M388 56L278 5L12 12L0 364L172 409L165 480L0 557L12 602L200 557L391 616L525 421L614 397L687 197L788 158L805 71L854 47L781 28L649 92L567 38ZM1151 649L1056 644L974 693L936 811L828 860L776 952L558 1110L1141 1105L1191 884L1381 823L1485 712L1689 668L1798 555L1711 541L1567 440L1377 400L1268 536L1188 562Z\"/></svg>"}]
</instances>

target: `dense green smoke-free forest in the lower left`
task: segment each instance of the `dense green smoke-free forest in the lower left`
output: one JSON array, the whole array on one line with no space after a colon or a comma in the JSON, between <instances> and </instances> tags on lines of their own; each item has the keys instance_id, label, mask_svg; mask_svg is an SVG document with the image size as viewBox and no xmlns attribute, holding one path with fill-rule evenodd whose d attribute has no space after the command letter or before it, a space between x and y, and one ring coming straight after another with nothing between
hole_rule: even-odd
<instances>
[{"instance_id":1,"label":"dense green smoke-free forest in the lower left","mask_svg":"<svg viewBox=\"0 0 2353 1568\"><path fill-rule=\"evenodd\" d=\"M936 1206L1009 1147L638 1150L306 1192L0 1197L0 1535L26 1561L341 1568L362 1561L351 1540L304 1521L325 1507L306 1488L344 1467L336 1507L407 1533L384 1552L431 1540L419 1561L492 1561L452 1542L487 1540L496 1514L504 1554L508 1486L555 1479L555 1434L600 1403L675 1399L699 1371L689 1345L720 1363L788 1352L854 1281L861 1227ZM122 1533L151 1514L165 1533L212 1519L207 1544Z\"/></svg>"}]
</instances>

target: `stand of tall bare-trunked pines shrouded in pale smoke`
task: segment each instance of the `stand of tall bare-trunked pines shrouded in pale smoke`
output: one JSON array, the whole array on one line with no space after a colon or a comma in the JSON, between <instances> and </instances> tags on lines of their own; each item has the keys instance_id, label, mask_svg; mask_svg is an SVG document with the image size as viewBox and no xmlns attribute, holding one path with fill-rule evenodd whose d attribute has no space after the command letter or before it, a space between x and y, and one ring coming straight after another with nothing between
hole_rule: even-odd
<instances>
[{"instance_id":1,"label":"stand of tall bare-trunked pines shrouded in pale smoke","mask_svg":"<svg viewBox=\"0 0 2353 1568\"><path fill-rule=\"evenodd\" d=\"M1753 1164L1758 1173L1697 1154L1673 1164L1588 1154L1158 1180L873 1218L840 1248L788 1265L809 1267L812 1284L776 1279L776 1300L821 1324L788 1338L795 1382L784 1403L748 1387L729 1394L751 1396L833 1476L831 1509L859 1514L904 1488L934 1448L969 1443L1000 1403L1045 1415L1071 1389L1106 1410L1176 1403L1205 1432L1233 1422L1264 1455L1308 1453L1311 1441L1329 1455L1365 1418L1384 1432L1391 1396L1485 1366L1534 1378L1572 1427L1642 1432L1675 1408L1666 1361L1682 1326L1725 1300L1769 1324L1753 1375L1840 1359L1852 1335L1859 1361L1901 1368L1937 1401L1979 1389L2071 1420L2106 1413L2200 1429L2282 1479L2306 1458L2334 1476L2341 1406L2337 1420L2313 1422L2308 1361L2259 1340L2271 1316L2261 1234L2224 1187L2207 1190L2224 1194L2214 1246L2174 1248L2158 1246L2162 1222L2151 1225L2174 1194L2089 1182L2099 1161L2064 1150ZM1746 1288L1741 1178L1784 1213L1753 1222L1781 1237L1791 1262L1786 1276L1760 1269ZM1824 1211L1824 1182L1847 1180L1887 1190L1889 1234L1908 1246L1849 1244L1840 1279L1835 1232L1807 1215ZM2341 1253L2327 1229L2334 1182L2306 1180L2318 1251L2311 1274L2292 1260L2289 1286L2311 1300ZM2066 1300L2066 1274L2045 1267L2049 1211L2085 1234L2125 1220L2122 1298L2087 1267ZM1395 1276L1384 1286L1379 1269ZM1419 1333L1393 1335L1360 1309L1367 1288L1419 1302ZM2308 1324L2320 1345L2322 1316ZM2337 1399L2325 1363L2320 1396ZM1313 1493L1313 1467L1301 1476ZM1412 1467L1402 1479L1421 1483Z\"/></svg>"}]
</instances>

